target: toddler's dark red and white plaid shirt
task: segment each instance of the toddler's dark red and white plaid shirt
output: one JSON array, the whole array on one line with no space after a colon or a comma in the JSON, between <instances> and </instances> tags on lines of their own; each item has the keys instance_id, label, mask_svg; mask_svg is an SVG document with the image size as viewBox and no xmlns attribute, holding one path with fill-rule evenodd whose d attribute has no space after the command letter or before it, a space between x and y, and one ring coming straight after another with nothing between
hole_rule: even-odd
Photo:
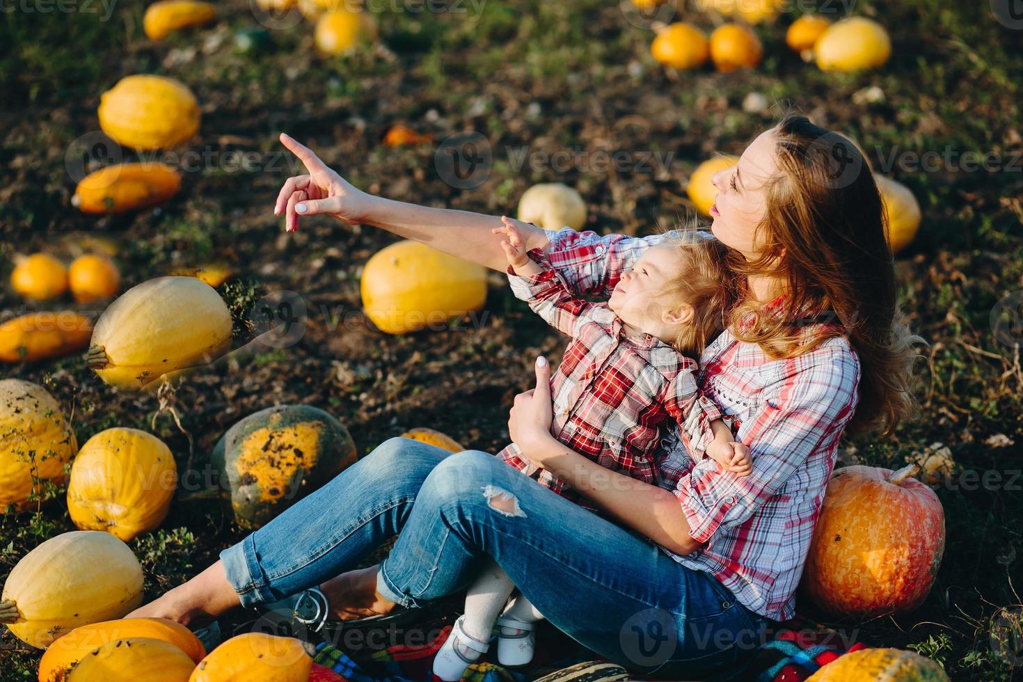
<instances>
[{"instance_id":1,"label":"toddler's dark red and white plaid shirt","mask_svg":"<svg viewBox=\"0 0 1023 682\"><path fill-rule=\"evenodd\" d=\"M700 400L696 361L656 336L626 336L622 321L606 303L576 297L540 252L531 255L542 272L520 277L509 268L511 290L572 337L550 377L551 435L605 468L658 485L654 453L661 425L669 418L682 422L683 439L693 441L691 450L703 452L713 440L710 421L720 418L713 403ZM520 454L513 443L498 457L559 495L593 508L563 481Z\"/></svg>"}]
</instances>

